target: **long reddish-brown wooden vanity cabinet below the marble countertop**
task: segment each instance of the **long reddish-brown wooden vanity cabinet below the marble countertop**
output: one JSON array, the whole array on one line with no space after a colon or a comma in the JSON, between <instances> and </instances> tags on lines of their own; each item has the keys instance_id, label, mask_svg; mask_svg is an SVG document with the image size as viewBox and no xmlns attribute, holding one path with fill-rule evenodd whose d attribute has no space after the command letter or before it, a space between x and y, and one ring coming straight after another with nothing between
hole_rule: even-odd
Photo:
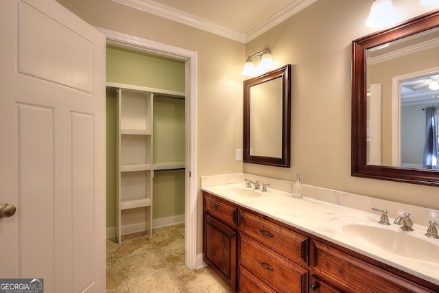
<instances>
[{"instance_id":1,"label":"long reddish-brown wooden vanity cabinet below the marble countertop","mask_svg":"<svg viewBox=\"0 0 439 293\"><path fill-rule=\"evenodd\" d=\"M439 292L439 285L204 191L204 261L233 290Z\"/></svg>"}]
</instances>

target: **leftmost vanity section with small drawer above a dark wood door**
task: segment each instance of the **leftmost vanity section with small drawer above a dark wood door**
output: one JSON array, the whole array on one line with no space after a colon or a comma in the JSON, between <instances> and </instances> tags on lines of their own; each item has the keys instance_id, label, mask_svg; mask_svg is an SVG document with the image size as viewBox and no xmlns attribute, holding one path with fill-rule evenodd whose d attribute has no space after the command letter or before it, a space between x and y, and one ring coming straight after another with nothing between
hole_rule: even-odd
<instances>
[{"instance_id":1,"label":"leftmost vanity section with small drawer above a dark wood door","mask_svg":"<svg viewBox=\"0 0 439 293\"><path fill-rule=\"evenodd\" d=\"M237 226L235 204L204 192L203 261L237 290Z\"/></svg>"}]
</instances>

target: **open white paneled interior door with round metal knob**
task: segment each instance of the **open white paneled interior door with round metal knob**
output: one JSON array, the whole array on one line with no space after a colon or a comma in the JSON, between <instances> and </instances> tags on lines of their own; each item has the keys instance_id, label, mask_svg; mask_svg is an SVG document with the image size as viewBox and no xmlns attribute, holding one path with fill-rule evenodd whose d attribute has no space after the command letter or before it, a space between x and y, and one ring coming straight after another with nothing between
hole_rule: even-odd
<instances>
[{"instance_id":1,"label":"open white paneled interior door with round metal knob","mask_svg":"<svg viewBox=\"0 0 439 293\"><path fill-rule=\"evenodd\" d=\"M54 0L3 0L0 42L0 277L104 292L105 37Z\"/></svg>"}]
</instances>

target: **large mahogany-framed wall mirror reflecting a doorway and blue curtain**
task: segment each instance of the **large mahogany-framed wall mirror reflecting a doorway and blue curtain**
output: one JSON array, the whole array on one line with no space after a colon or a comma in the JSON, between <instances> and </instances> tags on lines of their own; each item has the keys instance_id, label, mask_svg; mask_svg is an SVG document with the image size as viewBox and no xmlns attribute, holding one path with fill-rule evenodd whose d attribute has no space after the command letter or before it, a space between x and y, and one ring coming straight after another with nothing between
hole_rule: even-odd
<instances>
[{"instance_id":1,"label":"large mahogany-framed wall mirror reflecting a doorway and blue curtain","mask_svg":"<svg viewBox=\"0 0 439 293\"><path fill-rule=\"evenodd\" d=\"M439 11L352 46L352 175L439 186Z\"/></svg>"}]
</instances>

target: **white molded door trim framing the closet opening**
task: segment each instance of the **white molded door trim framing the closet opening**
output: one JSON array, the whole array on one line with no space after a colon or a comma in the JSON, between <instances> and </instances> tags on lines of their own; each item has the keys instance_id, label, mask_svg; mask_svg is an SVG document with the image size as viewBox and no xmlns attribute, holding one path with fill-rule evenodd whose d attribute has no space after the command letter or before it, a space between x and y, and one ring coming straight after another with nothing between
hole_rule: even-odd
<instances>
[{"instance_id":1,"label":"white molded door trim framing the closet opening","mask_svg":"<svg viewBox=\"0 0 439 293\"><path fill-rule=\"evenodd\" d=\"M186 266L194 270L197 264L197 52L152 40L138 38L102 27L95 27L106 36L108 45L135 49L166 56L186 63L186 191L185 249Z\"/></svg>"}]
</instances>

